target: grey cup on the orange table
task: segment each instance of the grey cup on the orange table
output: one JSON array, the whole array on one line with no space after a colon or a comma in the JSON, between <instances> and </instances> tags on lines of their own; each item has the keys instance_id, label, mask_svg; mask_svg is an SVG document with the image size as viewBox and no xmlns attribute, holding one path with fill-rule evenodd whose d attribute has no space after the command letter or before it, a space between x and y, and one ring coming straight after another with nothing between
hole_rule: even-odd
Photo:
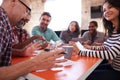
<instances>
[{"instance_id":1,"label":"grey cup on the orange table","mask_svg":"<svg viewBox=\"0 0 120 80\"><path fill-rule=\"evenodd\" d=\"M73 46L63 46L65 56L64 58L70 59L73 53Z\"/></svg>"}]
</instances>

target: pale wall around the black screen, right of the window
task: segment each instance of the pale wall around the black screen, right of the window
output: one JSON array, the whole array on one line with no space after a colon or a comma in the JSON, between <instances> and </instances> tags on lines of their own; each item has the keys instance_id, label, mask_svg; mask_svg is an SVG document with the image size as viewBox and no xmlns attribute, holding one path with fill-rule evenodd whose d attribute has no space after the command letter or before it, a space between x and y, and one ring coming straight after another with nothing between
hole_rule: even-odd
<instances>
[{"instance_id":1,"label":"pale wall around the black screen, right of the window","mask_svg":"<svg viewBox=\"0 0 120 80\"><path fill-rule=\"evenodd\" d=\"M91 6L98 6L102 5L104 0L82 0L82 21L81 21L81 28L88 29L88 24L90 21L95 20L98 22L98 31L104 31L102 18L95 18L91 19Z\"/></svg>"}]
</instances>

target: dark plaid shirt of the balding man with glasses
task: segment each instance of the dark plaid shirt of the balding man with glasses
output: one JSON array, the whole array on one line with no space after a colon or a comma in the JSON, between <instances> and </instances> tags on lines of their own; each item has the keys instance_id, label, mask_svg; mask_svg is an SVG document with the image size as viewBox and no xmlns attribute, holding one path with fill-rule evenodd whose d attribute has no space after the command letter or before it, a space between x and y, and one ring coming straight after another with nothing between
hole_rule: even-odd
<instances>
[{"instance_id":1,"label":"dark plaid shirt of the balding man with glasses","mask_svg":"<svg viewBox=\"0 0 120 80\"><path fill-rule=\"evenodd\" d=\"M0 66L11 64L12 34L7 14L0 7Z\"/></svg>"}]
</instances>

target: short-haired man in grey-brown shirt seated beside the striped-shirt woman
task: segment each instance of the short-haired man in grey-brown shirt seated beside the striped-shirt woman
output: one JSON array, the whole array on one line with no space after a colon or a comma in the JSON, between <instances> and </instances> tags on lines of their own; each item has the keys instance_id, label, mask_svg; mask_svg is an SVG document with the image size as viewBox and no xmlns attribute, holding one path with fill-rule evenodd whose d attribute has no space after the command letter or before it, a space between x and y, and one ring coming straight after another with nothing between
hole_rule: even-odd
<instances>
[{"instance_id":1,"label":"short-haired man in grey-brown shirt seated beside the striped-shirt woman","mask_svg":"<svg viewBox=\"0 0 120 80\"><path fill-rule=\"evenodd\" d=\"M97 31L98 24L96 21L89 23L89 31L82 36L83 45L101 45L105 41L105 34Z\"/></svg>"}]
</instances>

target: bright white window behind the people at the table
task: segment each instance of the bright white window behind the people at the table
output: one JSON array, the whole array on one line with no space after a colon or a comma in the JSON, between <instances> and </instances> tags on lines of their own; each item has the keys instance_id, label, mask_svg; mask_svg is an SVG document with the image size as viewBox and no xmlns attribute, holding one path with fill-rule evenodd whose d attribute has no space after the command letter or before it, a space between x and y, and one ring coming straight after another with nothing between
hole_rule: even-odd
<instances>
[{"instance_id":1,"label":"bright white window behind the people at the table","mask_svg":"<svg viewBox=\"0 0 120 80\"><path fill-rule=\"evenodd\" d=\"M81 25L81 0L47 0L45 11L52 15L49 27L54 31L67 29L72 20Z\"/></svg>"}]
</instances>

